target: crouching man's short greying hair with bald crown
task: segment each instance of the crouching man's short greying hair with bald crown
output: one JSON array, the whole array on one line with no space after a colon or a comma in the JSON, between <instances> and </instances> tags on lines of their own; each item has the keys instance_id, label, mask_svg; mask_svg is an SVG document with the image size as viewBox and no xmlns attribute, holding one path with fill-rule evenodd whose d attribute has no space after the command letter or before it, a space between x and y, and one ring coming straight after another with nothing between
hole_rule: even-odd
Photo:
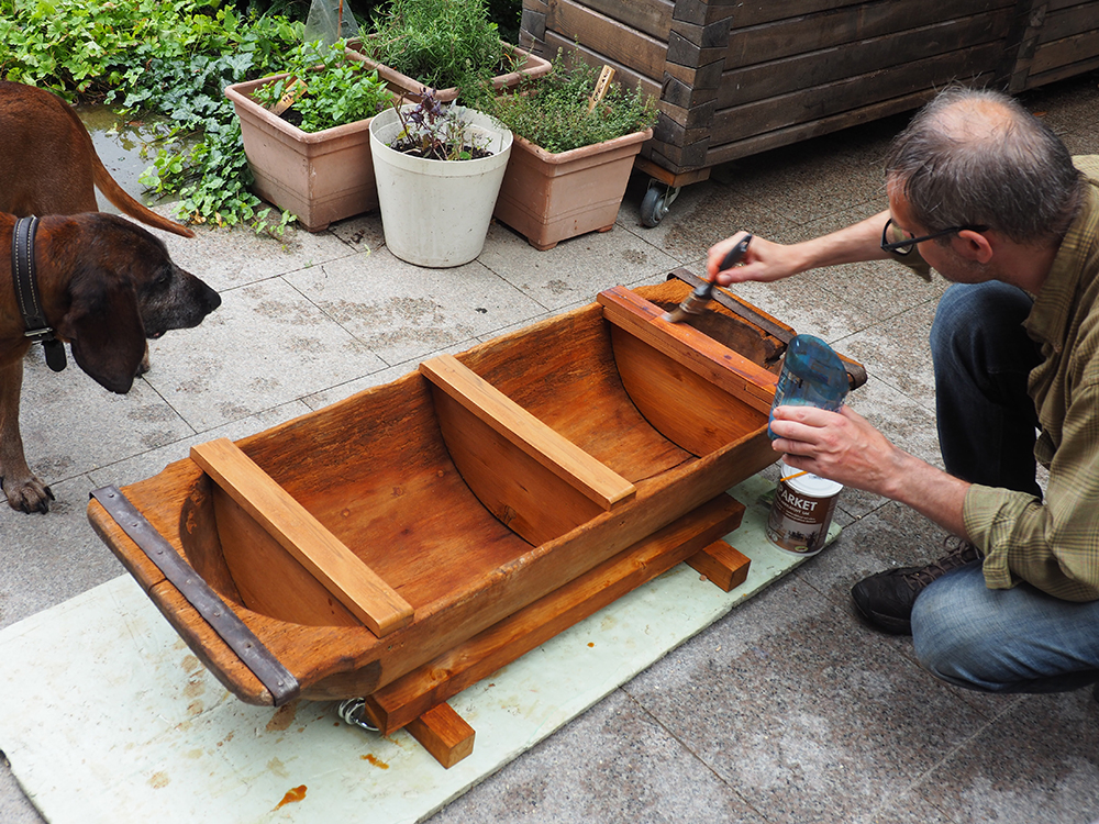
<instances>
[{"instance_id":1,"label":"crouching man's short greying hair with bald crown","mask_svg":"<svg viewBox=\"0 0 1099 824\"><path fill-rule=\"evenodd\" d=\"M1015 243L1064 235L1084 192L1053 130L1008 94L961 86L893 140L886 174L922 229L986 225Z\"/></svg>"}]
</instances>

